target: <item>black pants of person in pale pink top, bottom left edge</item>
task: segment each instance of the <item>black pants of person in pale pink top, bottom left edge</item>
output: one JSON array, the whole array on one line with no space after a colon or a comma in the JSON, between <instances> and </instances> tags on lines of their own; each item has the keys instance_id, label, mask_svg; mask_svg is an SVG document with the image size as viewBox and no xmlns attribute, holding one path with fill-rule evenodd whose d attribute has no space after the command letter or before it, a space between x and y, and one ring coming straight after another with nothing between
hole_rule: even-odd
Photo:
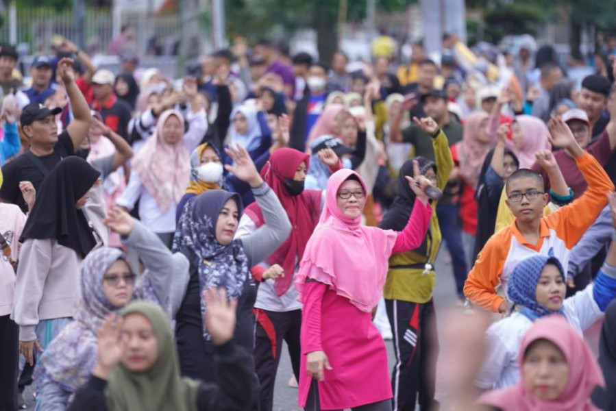
<instances>
[{"instance_id":1,"label":"black pants of person in pale pink top, bottom left edge","mask_svg":"<svg viewBox=\"0 0 616 411\"><path fill-rule=\"evenodd\" d=\"M17 409L19 327L9 315L0 316L0 411Z\"/></svg>"}]
</instances>

